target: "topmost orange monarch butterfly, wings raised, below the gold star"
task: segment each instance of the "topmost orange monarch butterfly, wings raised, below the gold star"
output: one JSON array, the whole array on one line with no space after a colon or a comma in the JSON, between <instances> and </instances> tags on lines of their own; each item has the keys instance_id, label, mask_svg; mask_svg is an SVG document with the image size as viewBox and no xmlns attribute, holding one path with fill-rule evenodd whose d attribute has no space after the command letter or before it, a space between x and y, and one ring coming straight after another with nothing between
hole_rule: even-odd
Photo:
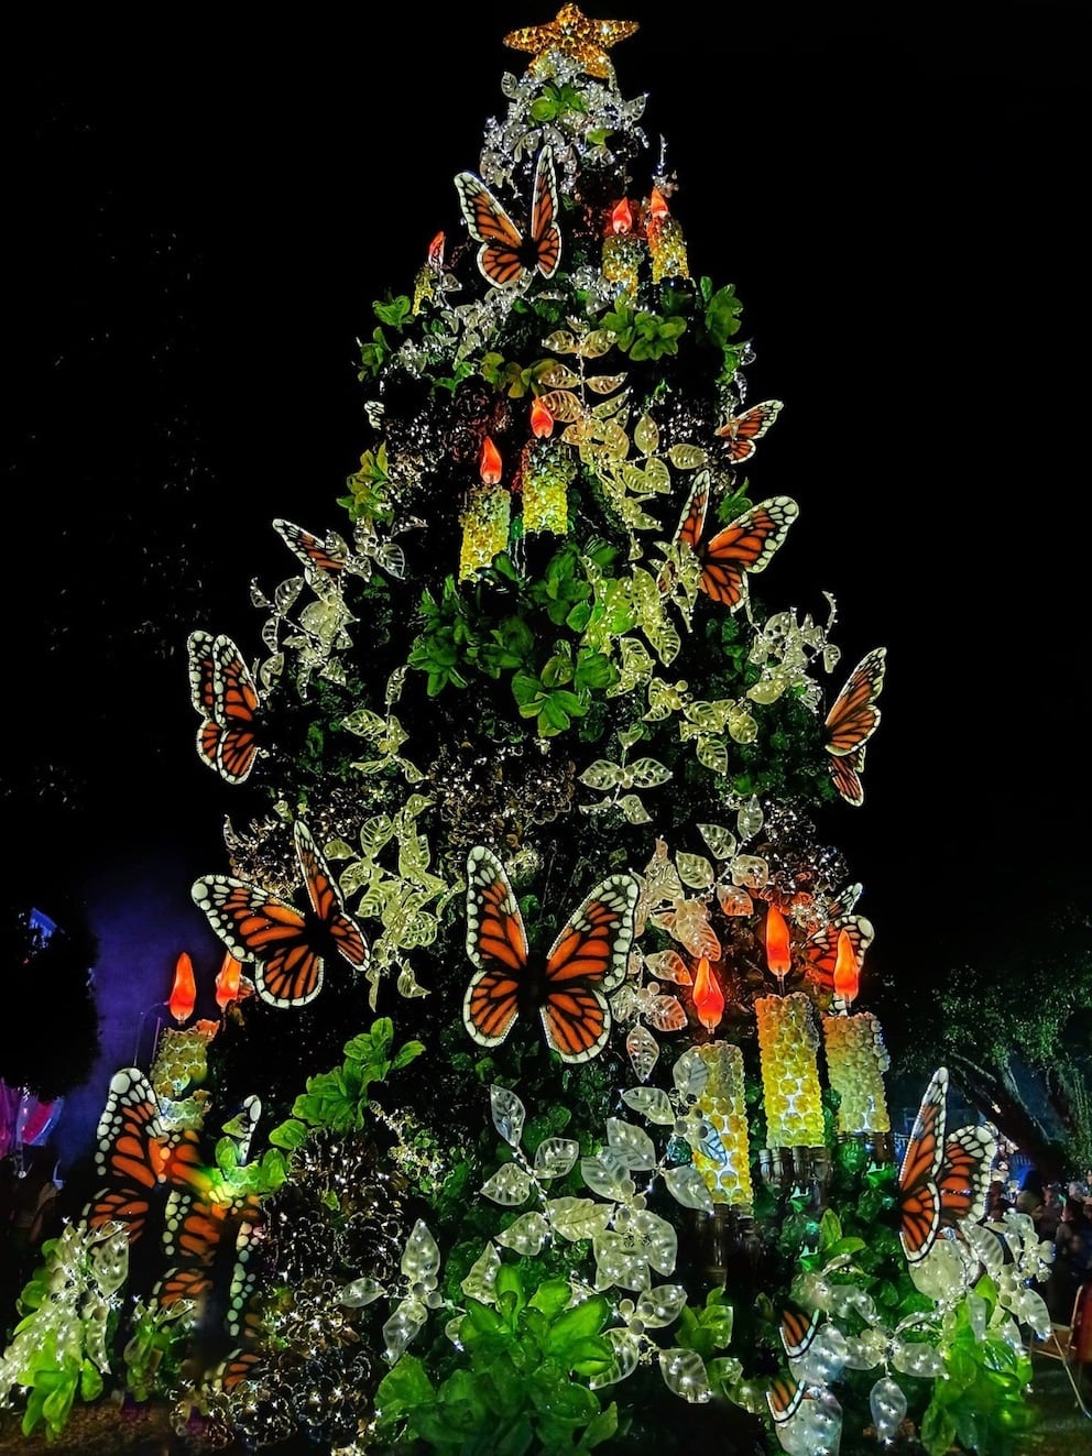
<instances>
[{"instance_id":1,"label":"topmost orange monarch butterfly, wings raised, below the gold star","mask_svg":"<svg viewBox=\"0 0 1092 1456\"><path fill-rule=\"evenodd\" d=\"M561 229L558 178L550 147L543 147L534 163L531 215L526 234L473 172L460 172L456 188L470 236L482 245L478 249L478 266L486 282L495 288L518 288L536 272L543 278L555 275L561 262Z\"/></svg>"}]
</instances>

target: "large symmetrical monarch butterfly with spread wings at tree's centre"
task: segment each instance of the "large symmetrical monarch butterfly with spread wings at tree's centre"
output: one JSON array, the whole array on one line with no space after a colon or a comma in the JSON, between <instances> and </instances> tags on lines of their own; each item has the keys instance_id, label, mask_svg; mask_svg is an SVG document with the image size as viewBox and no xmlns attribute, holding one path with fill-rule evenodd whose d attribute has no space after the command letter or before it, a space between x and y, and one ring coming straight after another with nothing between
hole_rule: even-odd
<instances>
[{"instance_id":1,"label":"large symmetrical monarch butterfly with spread wings at tree's centre","mask_svg":"<svg viewBox=\"0 0 1092 1456\"><path fill-rule=\"evenodd\" d=\"M496 1047L520 1013L539 1012L546 1044L562 1061L590 1061L610 1037L607 993L626 976L639 887L609 875L569 916L545 957L531 951L504 865L479 844L466 860L466 954L476 965L463 1022Z\"/></svg>"}]
</instances>

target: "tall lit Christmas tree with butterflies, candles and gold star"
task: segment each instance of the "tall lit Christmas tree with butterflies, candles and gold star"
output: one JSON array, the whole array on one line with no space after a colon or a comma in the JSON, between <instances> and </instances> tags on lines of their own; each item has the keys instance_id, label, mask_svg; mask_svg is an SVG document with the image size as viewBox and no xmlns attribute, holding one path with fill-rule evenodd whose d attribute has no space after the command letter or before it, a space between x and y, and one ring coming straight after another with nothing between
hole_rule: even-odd
<instances>
[{"instance_id":1,"label":"tall lit Christmas tree with butterflies, candles and gold star","mask_svg":"<svg viewBox=\"0 0 1092 1456\"><path fill-rule=\"evenodd\" d=\"M807 529L759 486L782 403L692 277L633 29L507 36L361 339L341 524L272 523L258 651L189 638L221 1016L183 958L111 1083L0 1358L28 1430L112 1389L249 1449L1016 1449L1034 1229L983 1224L943 1069L895 1156L818 828L885 651L760 598Z\"/></svg>"}]
</instances>

